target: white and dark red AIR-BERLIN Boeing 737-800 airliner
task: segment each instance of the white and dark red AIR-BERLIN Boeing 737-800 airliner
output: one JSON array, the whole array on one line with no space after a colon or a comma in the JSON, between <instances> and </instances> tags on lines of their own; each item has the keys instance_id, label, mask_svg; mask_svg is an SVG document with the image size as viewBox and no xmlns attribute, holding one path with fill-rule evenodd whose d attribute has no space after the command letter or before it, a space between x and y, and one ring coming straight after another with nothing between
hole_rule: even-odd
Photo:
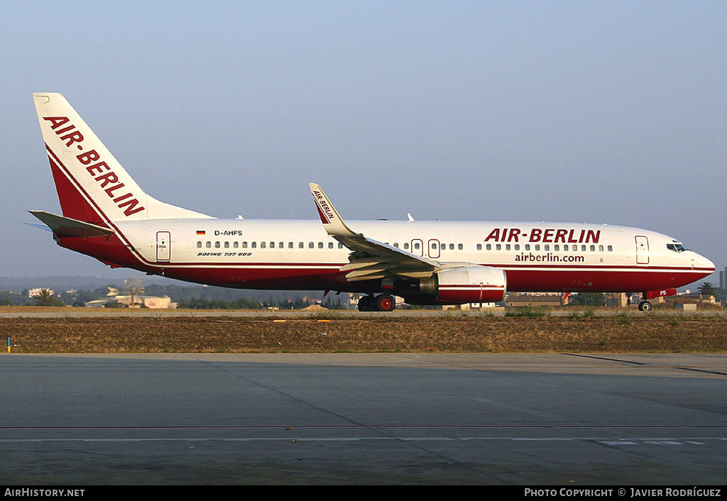
<instances>
[{"instance_id":1,"label":"white and dark red AIR-BERLIN Boeing 737-800 airliner","mask_svg":"<svg viewBox=\"0 0 727 501\"><path fill-rule=\"evenodd\" d=\"M316 220L222 220L153 199L65 97L33 94L63 216L31 211L57 244L112 268L241 289L364 293L360 310L497 302L506 291L642 292L709 275L670 236L572 223L350 221L311 183ZM321 224L322 223L322 224Z\"/></svg>"}]
</instances>

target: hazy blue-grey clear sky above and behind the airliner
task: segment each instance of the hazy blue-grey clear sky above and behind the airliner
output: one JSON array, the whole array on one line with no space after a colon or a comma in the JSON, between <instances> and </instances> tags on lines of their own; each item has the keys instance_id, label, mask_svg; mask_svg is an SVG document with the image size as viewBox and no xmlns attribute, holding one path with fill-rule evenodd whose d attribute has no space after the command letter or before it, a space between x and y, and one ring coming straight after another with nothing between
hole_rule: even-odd
<instances>
[{"instance_id":1,"label":"hazy blue-grey clear sky above and behind the airliner","mask_svg":"<svg viewBox=\"0 0 727 501\"><path fill-rule=\"evenodd\" d=\"M39 1L0 15L1 276L58 247L32 92L156 199L216 217L553 221L727 265L727 2ZM714 279L713 281L717 281Z\"/></svg>"}]
</instances>

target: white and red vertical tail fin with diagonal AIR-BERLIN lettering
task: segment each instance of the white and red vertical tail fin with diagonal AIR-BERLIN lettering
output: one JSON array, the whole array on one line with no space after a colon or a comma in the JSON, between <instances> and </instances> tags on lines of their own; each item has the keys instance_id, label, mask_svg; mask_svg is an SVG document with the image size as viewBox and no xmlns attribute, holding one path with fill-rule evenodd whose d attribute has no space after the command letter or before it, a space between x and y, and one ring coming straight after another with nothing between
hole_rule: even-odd
<instances>
[{"instance_id":1,"label":"white and red vertical tail fin with diagonal AIR-BERLIN lettering","mask_svg":"<svg viewBox=\"0 0 727 501\"><path fill-rule=\"evenodd\" d=\"M33 101L65 217L96 224L212 218L142 191L63 95L36 93Z\"/></svg>"}]
</instances>

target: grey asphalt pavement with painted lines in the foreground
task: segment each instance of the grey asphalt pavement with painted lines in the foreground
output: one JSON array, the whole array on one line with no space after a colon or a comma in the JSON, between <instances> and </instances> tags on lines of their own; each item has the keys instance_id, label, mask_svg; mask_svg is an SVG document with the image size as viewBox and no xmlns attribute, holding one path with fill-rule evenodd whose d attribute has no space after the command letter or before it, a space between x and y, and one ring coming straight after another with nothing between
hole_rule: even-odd
<instances>
[{"instance_id":1,"label":"grey asphalt pavement with painted lines in the foreground","mask_svg":"<svg viewBox=\"0 0 727 501\"><path fill-rule=\"evenodd\" d=\"M727 482L723 354L0 355L0 484Z\"/></svg>"}]
</instances>

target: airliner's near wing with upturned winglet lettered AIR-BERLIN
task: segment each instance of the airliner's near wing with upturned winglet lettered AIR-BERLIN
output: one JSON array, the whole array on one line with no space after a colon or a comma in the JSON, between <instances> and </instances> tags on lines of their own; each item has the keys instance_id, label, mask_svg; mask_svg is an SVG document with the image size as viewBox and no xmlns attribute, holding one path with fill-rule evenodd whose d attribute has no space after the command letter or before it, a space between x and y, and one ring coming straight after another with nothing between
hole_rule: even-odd
<instances>
[{"instance_id":1,"label":"airliner's near wing with upturned winglet lettered AIR-BERLIN","mask_svg":"<svg viewBox=\"0 0 727 501\"><path fill-rule=\"evenodd\" d=\"M326 232L352 251L348 256L350 262L341 268L341 271L348 271L346 274L348 281L393 278L395 276L423 278L443 268L437 261L411 254L398 247L369 239L362 233L354 232L333 207L321 187L315 183L309 183L309 186Z\"/></svg>"}]
</instances>

